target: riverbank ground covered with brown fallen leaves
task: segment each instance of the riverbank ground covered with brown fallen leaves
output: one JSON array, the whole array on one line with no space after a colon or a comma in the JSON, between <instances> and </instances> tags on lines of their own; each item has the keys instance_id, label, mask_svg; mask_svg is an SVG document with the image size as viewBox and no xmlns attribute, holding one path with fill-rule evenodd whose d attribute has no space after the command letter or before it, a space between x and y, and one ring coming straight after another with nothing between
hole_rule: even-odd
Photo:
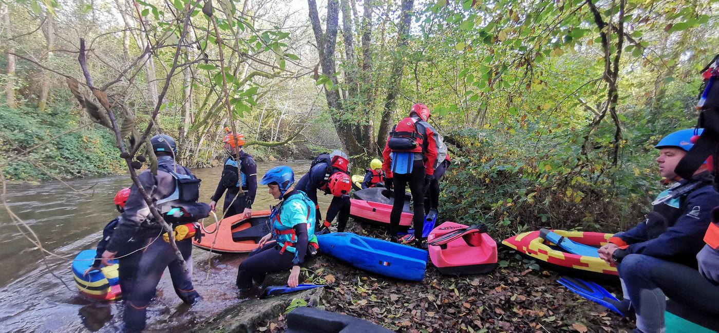
<instances>
[{"instance_id":1,"label":"riverbank ground covered with brown fallen leaves","mask_svg":"<svg viewBox=\"0 0 719 333\"><path fill-rule=\"evenodd\" d=\"M382 229L353 232L384 237ZM551 270L532 269L501 247L500 266L487 275L448 277L428 264L424 280L417 283L367 273L334 260L319 257L303 274L308 283L328 283L318 306L349 314L399 332L631 332L633 324L607 309L567 291ZM618 286L607 286L620 293ZM306 296L297 296L303 298ZM233 306L234 308L235 306ZM239 309L239 308L238 308ZM228 312L229 311L229 312ZM211 319L213 327L238 327L247 321L242 311L235 316ZM265 314L266 316L266 314ZM240 319L242 318L242 319ZM284 332L284 311L258 322L260 332ZM207 326L201 326L206 328Z\"/></svg>"}]
</instances>

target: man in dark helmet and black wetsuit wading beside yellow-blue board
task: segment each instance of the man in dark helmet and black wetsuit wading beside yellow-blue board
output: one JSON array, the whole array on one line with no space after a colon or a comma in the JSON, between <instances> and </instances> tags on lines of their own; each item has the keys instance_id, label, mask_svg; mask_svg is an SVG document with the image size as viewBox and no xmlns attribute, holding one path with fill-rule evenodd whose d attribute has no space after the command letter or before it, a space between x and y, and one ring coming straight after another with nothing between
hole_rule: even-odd
<instances>
[{"instance_id":1,"label":"man in dark helmet and black wetsuit wading beside yellow-blue board","mask_svg":"<svg viewBox=\"0 0 719 333\"><path fill-rule=\"evenodd\" d=\"M127 281L122 284L125 332L145 329L147 305L155 297L157 283L165 268L170 270L175 293L183 302L194 304L200 299L192 283L191 237L196 232L197 220L209 216L210 206L197 202L200 180L190 170L175 163L175 140L159 134L152 137L150 144L157 155L157 175L145 170L137 178L155 201L162 218L175 229L175 244L188 270L182 269L167 233L150 214L137 185L132 184L122 216L102 254L105 265L107 260L119 257L119 278Z\"/></svg>"}]
</instances>

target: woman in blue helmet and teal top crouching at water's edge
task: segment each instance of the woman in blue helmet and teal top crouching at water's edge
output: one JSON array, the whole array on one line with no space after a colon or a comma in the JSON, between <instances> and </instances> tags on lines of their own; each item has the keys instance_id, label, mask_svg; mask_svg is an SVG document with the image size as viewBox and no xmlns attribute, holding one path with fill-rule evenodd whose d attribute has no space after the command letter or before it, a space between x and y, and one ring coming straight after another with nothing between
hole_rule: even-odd
<instances>
[{"instance_id":1,"label":"woman in blue helmet and teal top crouching at water's edge","mask_svg":"<svg viewBox=\"0 0 719 333\"><path fill-rule=\"evenodd\" d=\"M314 234L315 209L303 191L294 188L295 173L286 165L272 168L262 176L260 184L267 185L270 194L280 199L270 214L271 232L260 240L260 247L249 253L237 271L237 287L245 293L258 285L267 273L292 268L287 285L299 284L300 265L308 246L317 244ZM311 244L313 243L313 244Z\"/></svg>"}]
</instances>

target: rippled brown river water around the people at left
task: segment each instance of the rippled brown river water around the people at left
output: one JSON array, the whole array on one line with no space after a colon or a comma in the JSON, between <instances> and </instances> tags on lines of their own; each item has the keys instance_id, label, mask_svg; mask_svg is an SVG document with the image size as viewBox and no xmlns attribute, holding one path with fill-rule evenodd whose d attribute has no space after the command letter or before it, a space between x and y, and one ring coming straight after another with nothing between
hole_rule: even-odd
<instances>
[{"instance_id":1,"label":"rippled brown river water around the people at left","mask_svg":"<svg viewBox=\"0 0 719 333\"><path fill-rule=\"evenodd\" d=\"M311 161L258 163L258 180L276 165L290 165L299 178L309 170ZM209 202L222 168L193 170L202 179L201 200ZM6 199L17 214L37 234L42 247L62 259L47 255L32 245L0 207L0 331L3 332L114 332L119 327L116 314L121 304L83 298L78 293L70 270L71 260L81 250L93 249L102 229L118 212L113 204L115 193L131 183L129 176L85 178L63 183L40 185L12 184ZM89 189L86 189L89 188ZM319 195L321 211L331 200ZM220 201L222 202L222 201ZM268 209L277 201L266 186L257 188L253 208ZM218 211L221 204L218 205ZM324 215L324 214L323 214ZM212 221L214 222L214 220ZM205 224L209 224L209 219ZM173 291L170 274L165 270L157 298L148 308L148 331L187 330L239 302L234 281L237 265L246 255L210 255L193 248L193 281L204 300L189 307ZM54 275L54 276L53 276Z\"/></svg>"}]
</instances>

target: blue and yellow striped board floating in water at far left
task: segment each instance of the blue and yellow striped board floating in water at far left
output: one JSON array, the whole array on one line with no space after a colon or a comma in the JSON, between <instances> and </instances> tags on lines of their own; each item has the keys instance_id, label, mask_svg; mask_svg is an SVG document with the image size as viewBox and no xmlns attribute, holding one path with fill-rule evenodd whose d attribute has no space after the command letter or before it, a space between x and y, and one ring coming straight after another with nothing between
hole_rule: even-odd
<instances>
[{"instance_id":1,"label":"blue and yellow striped board floating in water at far left","mask_svg":"<svg viewBox=\"0 0 719 333\"><path fill-rule=\"evenodd\" d=\"M105 266L100 270L93 270L83 276L85 270L90 268L95 258L95 250L84 250L78 253L73 260L73 278L75 286L81 294L100 299L103 301L114 301L121 297L119 265L117 260L111 260L112 265Z\"/></svg>"}]
</instances>

